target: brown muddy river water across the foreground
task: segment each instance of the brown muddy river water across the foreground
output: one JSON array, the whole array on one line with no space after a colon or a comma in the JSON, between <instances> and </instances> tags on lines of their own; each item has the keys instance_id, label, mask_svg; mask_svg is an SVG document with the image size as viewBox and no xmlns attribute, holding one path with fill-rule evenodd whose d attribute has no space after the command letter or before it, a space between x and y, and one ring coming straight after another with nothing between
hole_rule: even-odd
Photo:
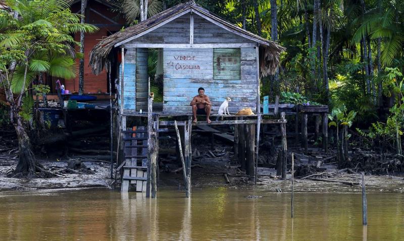
<instances>
[{"instance_id":1,"label":"brown muddy river water across the foreground","mask_svg":"<svg viewBox=\"0 0 404 241\"><path fill-rule=\"evenodd\" d=\"M246 198L248 195L262 196ZM404 240L404 194L175 189L1 192L0 240Z\"/></svg>"}]
</instances>

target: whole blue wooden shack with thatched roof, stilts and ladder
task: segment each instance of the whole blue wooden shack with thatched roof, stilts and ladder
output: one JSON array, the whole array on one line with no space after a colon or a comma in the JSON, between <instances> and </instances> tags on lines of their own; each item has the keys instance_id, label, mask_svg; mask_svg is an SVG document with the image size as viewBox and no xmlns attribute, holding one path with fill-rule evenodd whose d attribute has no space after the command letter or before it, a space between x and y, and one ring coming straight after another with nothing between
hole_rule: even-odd
<instances>
[{"instance_id":1,"label":"whole blue wooden shack with thatched roof, stilts and ladder","mask_svg":"<svg viewBox=\"0 0 404 241\"><path fill-rule=\"evenodd\" d=\"M263 119L260 108L260 78L276 71L283 47L190 1L100 41L90 52L94 74L101 73L103 69L113 72L117 48L121 52L118 109L120 140L124 141L121 142L124 162L120 165L124 169L122 192L128 190L130 183L143 182L137 184L136 189L146 186L146 196L151 190L151 197L156 197L156 157L158 136L162 130L159 127L162 126L175 125L177 130L177 125L181 127L183 137L177 134L177 140L181 139L184 143L181 157L184 175L187 176L184 179L188 180L187 196L190 194L191 132L195 125L241 125L235 128L234 142L239 144L240 153L244 153L240 163L249 176L257 175L260 125L281 125L282 177L286 176L284 114L280 119ZM163 78L163 103L159 110L152 109L153 98L148 93L148 53L151 49L158 51L156 76ZM217 113L226 97L233 100L229 104L230 113L250 107L256 114L244 119L233 115L229 117L233 117L232 120L192 123L189 103L197 95L199 87L205 88L211 99L212 114ZM140 109L146 110L147 114L139 113ZM128 127L127 116L147 117L147 131ZM179 122L160 119L167 116L182 116L182 119L177 119ZM142 136L145 132L147 138ZM238 133L242 141L236 138ZM238 149L237 144L235 149ZM181 146L180 141L178 146ZM147 160L143 159L146 152Z\"/></svg>"}]
</instances>

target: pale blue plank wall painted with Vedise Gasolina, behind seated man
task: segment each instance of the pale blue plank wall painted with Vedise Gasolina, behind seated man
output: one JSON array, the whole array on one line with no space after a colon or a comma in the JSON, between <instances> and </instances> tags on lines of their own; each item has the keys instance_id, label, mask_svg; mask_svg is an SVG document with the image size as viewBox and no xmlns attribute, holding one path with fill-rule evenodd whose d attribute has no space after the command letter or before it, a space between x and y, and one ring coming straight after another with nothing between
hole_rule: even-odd
<instances>
[{"instance_id":1,"label":"pale blue plank wall painted with Vedise Gasolina, behind seated man","mask_svg":"<svg viewBox=\"0 0 404 241\"><path fill-rule=\"evenodd\" d=\"M189 103L199 87L205 88L214 113L226 97L233 100L230 112L243 107L257 110L256 48L240 49L240 63L234 66L239 66L241 78L232 80L214 79L213 52L213 48L164 49L164 111L191 111Z\"/></svg>"}]
</instances>

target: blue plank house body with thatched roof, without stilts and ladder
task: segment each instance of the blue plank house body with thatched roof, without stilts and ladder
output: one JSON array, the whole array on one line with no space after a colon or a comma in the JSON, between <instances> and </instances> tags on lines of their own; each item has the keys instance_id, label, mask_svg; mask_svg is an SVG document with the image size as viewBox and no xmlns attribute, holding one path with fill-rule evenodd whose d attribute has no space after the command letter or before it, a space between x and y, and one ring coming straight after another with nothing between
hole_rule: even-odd
<instances>
[{"instance_id":1,"label":"blue plank house body with thatched roof, without stilts and ladder","mask_svg":"<svg viewBox=\"0 0 404 241\"><path fill-rule=\"evenodd\" d=\"M275 72L283 51L277 43L229 23L193 1L100 41L90 52L94 74L111 69L116 48L123 53L119 102L124 113L147 109L147 53L151 48L159 54L156 76L163 79L166 113L190 112L189 103L199 87L210 97L213 113L226 97L233 100L230 112L243 107L259 111L260 77Z\"/></svg>"}]
</instances>

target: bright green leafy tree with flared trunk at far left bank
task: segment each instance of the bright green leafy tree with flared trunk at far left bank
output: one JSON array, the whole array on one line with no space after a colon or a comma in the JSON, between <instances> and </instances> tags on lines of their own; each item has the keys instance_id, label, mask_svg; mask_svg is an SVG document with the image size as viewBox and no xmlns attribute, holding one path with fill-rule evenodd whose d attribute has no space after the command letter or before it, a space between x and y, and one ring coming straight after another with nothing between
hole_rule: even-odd
<instances>
[{"instance_id":1,"label":"bright green leafy tree with flared trunk at far left bank","mask_svg":"<svg viewBox=\"0 0 404 241\"><path fill-rule=\"evenodd\" d=\"M31 150L28 121L32 118L32 96L29 88L38 73L72 79L76 76L73 45L76 32L93 32L95 27L80 23L64 0L7 0L16 13L13 18L0 12L0 82L10 104L10 119L19 144L16 173L28 176L42 170ZM15 63L15 68L8 68ZM40 89L40 88L38 88Z\"/></svg>"}]
</instances>

